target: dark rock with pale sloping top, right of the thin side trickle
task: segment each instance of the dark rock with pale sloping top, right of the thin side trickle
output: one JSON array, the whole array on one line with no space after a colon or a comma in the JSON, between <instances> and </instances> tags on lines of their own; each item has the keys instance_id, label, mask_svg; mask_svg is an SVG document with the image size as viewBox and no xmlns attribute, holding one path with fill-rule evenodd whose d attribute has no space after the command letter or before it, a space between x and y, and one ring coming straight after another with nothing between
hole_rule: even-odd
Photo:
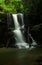
<instances>
[{"instance_id":1,"label":"dark rock with pale sloping top, right of the thin side trickle","mask_svg":"<svg viewBox=\"0 0 42 65\"><path fill-rule=\"evenodd\" d=\"M32 28L31 30L32 36L35 38L37 41L38 45L42 47L42 25L35 25L35 27Z\"/></svg>"}]
</instances>

